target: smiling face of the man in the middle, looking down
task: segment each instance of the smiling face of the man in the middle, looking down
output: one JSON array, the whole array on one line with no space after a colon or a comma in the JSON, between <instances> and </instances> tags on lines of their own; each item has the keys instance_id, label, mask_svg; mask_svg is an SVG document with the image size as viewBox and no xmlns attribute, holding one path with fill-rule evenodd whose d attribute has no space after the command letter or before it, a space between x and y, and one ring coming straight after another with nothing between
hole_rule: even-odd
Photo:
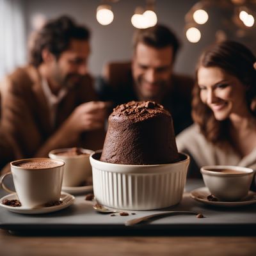
<instances>
[{"instance_id":1,"label":"smiling face of the man in the middle, looking down","mask_svg":"<svg viewBox=\"0 0 256 256\"><path fill-rule=\"evenodd\" d=\"M143 43L136 46L132 76L141 100L156 100L165 92L172 75L173 49L161 49Z\"/></svg>"}]
</instances>

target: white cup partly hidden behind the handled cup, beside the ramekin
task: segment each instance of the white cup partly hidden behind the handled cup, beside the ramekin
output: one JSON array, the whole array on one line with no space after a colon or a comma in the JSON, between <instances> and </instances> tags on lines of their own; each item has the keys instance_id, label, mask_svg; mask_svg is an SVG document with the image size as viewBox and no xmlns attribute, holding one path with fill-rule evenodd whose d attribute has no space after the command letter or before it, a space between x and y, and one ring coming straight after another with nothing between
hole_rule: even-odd
<instances>
[{"instance_id":1,"label":"white cup partly hidden behind the handled cup, beside the ramekin","mask_svg":"<svg viewBox=\"0 0 256 256\"><path fill-rule=\"evenodd\" d=\"M51 159L61 159L65 162L63 187L81 186L89 177L92 177L92 166L90 164L90 154L93 150L77 148L82 154L65 155L63 152L70 152L74 148L60 148L49 152Z\"/></svg>"}]
</instances>

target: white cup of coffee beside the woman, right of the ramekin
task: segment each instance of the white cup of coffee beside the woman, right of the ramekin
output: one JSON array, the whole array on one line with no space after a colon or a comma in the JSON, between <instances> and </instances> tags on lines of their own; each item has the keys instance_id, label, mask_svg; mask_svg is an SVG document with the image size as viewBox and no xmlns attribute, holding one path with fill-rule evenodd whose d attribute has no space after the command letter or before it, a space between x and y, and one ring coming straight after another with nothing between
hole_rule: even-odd
<instances>
[{"instance_id":1,"label":"white cup of coffee beside the woman, right of the ramekin","mask_svg":"<svg viewBox=\"0 0 256 256\"><path fill-rule=\"evenodd\" d=\"M248 195L254 171L241 166L211 165L200 169L205 186L219 200L237 201Z\"/></svg>"}]
</instances>

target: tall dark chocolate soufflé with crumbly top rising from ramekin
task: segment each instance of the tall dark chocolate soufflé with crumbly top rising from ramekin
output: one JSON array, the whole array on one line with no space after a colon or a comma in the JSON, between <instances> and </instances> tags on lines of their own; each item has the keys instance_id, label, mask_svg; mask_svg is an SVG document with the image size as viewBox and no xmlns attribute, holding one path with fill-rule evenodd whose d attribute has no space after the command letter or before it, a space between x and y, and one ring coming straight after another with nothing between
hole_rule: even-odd
<instances>
[{"instance_id":1,"label":"tall dark chocolate souffl\u00e9 with crumbly top rising from ramekin","mask_svg":"<svg viewBox=\"0 0 256 256\"><path fill-rule=\"evenodd\" d=\"M165 164L179 161L170 113L154 101L117 106L108 119L100 161Z\"/></svg>"}]
</instances>

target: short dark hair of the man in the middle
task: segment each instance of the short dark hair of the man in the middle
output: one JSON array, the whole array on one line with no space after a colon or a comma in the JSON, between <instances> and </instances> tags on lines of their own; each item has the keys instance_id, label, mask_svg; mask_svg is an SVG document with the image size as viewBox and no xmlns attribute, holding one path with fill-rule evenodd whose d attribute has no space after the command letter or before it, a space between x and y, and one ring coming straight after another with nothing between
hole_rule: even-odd
<instances>
[{"instance_id":1,"label":"short dark hair of the man in the middle","mask_svg":"<svg viewBox=\"0 0 256 256\"><path fill-rule=\"evenodd\" d=\"M164 48L166 46L173 47L173 60L177 55L177 51L180 48L180 42L169 28L164 25L157 24L151 28L138 29L134 33L133 37L133 49L136 51L136 47L139 43L155 47L155 48Z\"/></svg>"}]
</instances>

